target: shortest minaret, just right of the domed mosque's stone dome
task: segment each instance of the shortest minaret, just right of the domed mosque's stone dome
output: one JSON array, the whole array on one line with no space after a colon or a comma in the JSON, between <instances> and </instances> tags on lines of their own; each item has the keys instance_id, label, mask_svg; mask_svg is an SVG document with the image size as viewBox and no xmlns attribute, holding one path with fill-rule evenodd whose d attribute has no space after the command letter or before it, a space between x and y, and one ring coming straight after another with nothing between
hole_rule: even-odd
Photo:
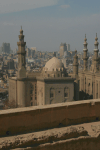
<instances>
[{"instance_id":1,"label":"shortest minaret, just right of the domed mosque's stone dome","mask_svg":"<svg viewBox=\"0 0 100 150\"><path fill-rule=\"evenodd\" d=\"M73 62L73 74L78 75L78 56L75 49L74 62Z\"/></svg>"}]
</instances>

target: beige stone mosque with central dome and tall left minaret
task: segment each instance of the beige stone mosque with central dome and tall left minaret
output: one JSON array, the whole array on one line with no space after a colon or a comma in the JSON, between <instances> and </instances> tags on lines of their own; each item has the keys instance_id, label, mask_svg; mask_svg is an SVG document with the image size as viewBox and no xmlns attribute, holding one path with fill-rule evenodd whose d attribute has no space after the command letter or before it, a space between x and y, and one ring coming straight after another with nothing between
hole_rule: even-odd
<instances>
[{"instance_id":1,"label":"beige stone mosque with central dome and tall left minaret","mask_svg":"<svg viewBox=\"0 0 100 150\"><path fill-rule=\"evenodd\" d=\"M55 56L43 67L39 76L26 72L26 51L21 28L18 45L18 74L9 78L9 102L15 107L55 104L79 99L77 51L74 56L74 72L68 75L64 64ZM77 93L77 94L75 94Z\"/></svg>"}]
</instances>

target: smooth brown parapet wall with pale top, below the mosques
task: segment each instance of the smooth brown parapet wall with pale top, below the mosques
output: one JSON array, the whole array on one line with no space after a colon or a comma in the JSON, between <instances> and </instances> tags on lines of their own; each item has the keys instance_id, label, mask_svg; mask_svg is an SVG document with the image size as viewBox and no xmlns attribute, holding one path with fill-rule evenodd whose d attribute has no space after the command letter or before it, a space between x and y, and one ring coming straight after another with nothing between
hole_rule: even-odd
<instances>
[{"instance_id":1,"label":"smooth brown parapet wall with pale top, below the mosques","mask_svg":"<svg viewBox=\"0 0 100 150\"><path fill-rule=\"evenodd\" d=\"M0 111L0 136L100 120L100 100L66 102Z\"/></svg>"}]
</instances>

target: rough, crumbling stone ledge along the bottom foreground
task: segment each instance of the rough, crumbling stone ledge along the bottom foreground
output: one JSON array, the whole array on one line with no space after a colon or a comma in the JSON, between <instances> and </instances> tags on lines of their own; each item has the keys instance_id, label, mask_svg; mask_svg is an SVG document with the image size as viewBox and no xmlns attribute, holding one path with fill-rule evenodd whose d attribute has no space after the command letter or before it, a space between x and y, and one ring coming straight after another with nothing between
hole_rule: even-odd
<instances>
[{"instance_id":1,"label":"rough, crumbling stone ledge along the bottom foreground","mask_svg":"<svg viewBox=\"0 0 100 150\"><path fill-rule=\"evenodd\" d=\"M100 150L100 121L1 137L2 149Z\"/></svg>"}]
</instances>

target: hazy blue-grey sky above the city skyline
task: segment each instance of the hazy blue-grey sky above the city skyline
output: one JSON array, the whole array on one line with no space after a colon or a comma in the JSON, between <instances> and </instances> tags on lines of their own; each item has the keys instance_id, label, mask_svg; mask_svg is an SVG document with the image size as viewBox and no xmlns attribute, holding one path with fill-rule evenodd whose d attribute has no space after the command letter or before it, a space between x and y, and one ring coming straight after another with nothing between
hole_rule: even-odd
<instances>
[{"instance_id":1,"label":"hazy blue-grey sky above the city skyline","mask_svg":"<svg viewBox=\"0 0 100 150\"><path fill-rule=\"evenodd\" d=\"M28 47L58 51L61 42L71 50L83 50L85 33L88 50L100 41L100 0L0 0L0 46L17 48L22 25Z\"/></svg>"}]
</instances>

